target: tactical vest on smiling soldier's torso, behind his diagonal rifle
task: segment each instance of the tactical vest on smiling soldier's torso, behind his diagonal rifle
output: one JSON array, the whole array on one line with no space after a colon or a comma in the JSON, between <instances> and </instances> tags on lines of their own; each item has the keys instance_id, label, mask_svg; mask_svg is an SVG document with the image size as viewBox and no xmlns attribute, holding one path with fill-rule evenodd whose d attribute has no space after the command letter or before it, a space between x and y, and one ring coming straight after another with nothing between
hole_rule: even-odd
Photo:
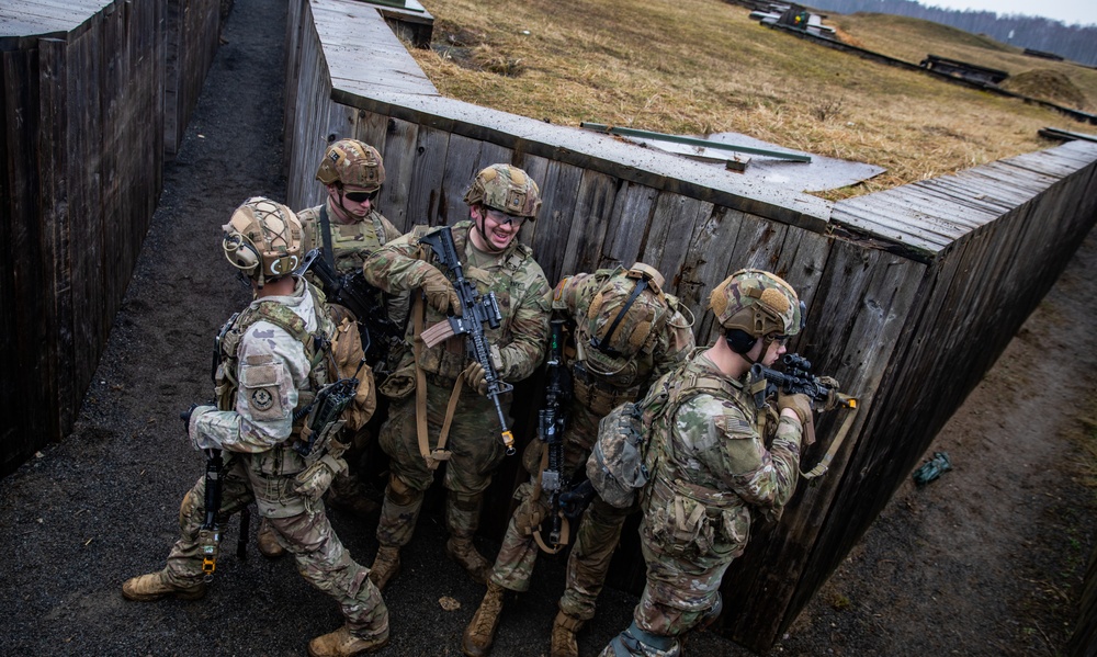
<instances>
[{"instance_id":1,"label":"tactical vest on smiling soldier's torso, behind his diagonal rifle","mask_svg":"<svg viewBox=\"0 0 1097 657\"><path fill-rule=\"evenodd\" d=\"M472 222L460 222L454 224L452 228L453 235L453 246L457 251L457 256L462 258L462 270L465 277L470 281L476 283L476 288L480 294L486 291L494 290L496 293L496 299L499 303L499 310L502 315L502 321L499 324L499 328L489 329L484 327L485 333L488 337L488 342L491 344L501 344L509 342L510 338L510 324L513 319L514 302L520 298L522 291L520 288L521 281L517 280L516 274L522 271L527 261L532 259L533 251L525 245L519 243L516 239L511 242L511 246L501 256L500 269L496 271L488 271L480 269L478 267L472 267L464 262L465 249L468 243L468 231L473 228ZM426 235L431 230L429 226L416 226L411 233L412 243L420 237ZM430 248L423 247L419 250L419 259L427 262L433 262L433 253ZM444 268L440 268L443 269ZM443 272L446 276L452 279L452 274L448 271ZM499 283L506 282L505 288L498 288ZM433 308L426 308L427 313L427 327L434 322L441 321L442 317ZM410 327L414 326L414 321L409 321ZM410 355L410 354L408 354ZM466 350L464 340L445 340L440 344L436 344L430 349L423 349L422 360L419 366L422 367L423 372L431 375L437 375L446 380L456 380L461 372L465 369L467 363ZM405 361L408 356L405 356Z\"/></svg>"}]
</instances>

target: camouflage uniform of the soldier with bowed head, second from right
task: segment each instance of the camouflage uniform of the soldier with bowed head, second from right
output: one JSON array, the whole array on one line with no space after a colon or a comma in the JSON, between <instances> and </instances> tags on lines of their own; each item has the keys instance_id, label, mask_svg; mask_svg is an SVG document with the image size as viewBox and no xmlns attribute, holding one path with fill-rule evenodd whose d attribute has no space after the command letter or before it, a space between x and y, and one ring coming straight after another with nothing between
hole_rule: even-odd
<instances>
[{"instance_id":1,"label":"camouflage uniform of the soldier with bowed head, second from right","mask_svg":"<svg viewBox=\"0 0 1097 657\"><path fill-rule=\"evenodd\" d=\"M576 274L557 284L553 293L553 308L563 313L576 329L576 343L589 342L588 316L590 304L608 281L623 280L624 270L599 270L593 274ZM631 290L635 281L627 280ZM627 327L630 330L633 327ZM593 369L584 367L578 353L567 359L573 378L589 382L586 389L592 394L576 395L568 410L564 434L564 469L573 482L581 480L590 450L598 438L598 422L609 412L608 399L634 400L656 377L672 370L693 348L693 333L688 322L677 311L659 324L648 347L633 356L602 360ZM593 349L587 348L586 354ZM580 353L583 353L580 351ZM530 578L540 550L528 531L531 512L531 484L523 484L514 492L519 500L507 526L502 545L496 557L491 581L513 591L529 589ZM548 508L544 499L536 502L542 516ZM574 530L572 552L567 562L567 588L561 598L564 613L589 620L595 615L595 603L602 590L610 558L621 537L625 519L635 509L615 509L596 496L580 517ZM574 526L574 525L573 525Z\"/></svg>"}]
</instances>

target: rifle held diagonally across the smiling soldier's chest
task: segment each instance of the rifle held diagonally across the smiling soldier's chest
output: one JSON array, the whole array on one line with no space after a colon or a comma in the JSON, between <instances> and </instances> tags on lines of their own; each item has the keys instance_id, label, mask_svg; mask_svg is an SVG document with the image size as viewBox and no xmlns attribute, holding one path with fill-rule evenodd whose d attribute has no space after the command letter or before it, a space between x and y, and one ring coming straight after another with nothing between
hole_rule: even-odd
<instances>
[{"instance_id":1,"label":"rifle held diagonally across the smiling soldier's chest","mask_svg":"<svg viewBox=\"0 0 1097 657\"><path fill-rule=\"evenodd\" d=\"M439 230L422 236L419 241L429 246L439 264L450 270L450 273L456 279L453 288L457 293L457 298L461 299L462 315L461 317L449 316L449 328L454 336L465 336L468 355L484 367L487 396L495 403L495 410L499 416L502 444L507 445L508 455L513 454L514 434L507 427L507 418L499 404L499 395L511 392L514 386L502 381L499 373L496 372L495 365L491 363L487 337L484 335L484 322L487 322L493 329L499 328L502 322L499 303L496 301L494 292L482 295L476 291L476 284L465 277L461 260L457 258L456 246L453 243L453 233L449 226L442 226Z\"/></svg>"}]
</instances>

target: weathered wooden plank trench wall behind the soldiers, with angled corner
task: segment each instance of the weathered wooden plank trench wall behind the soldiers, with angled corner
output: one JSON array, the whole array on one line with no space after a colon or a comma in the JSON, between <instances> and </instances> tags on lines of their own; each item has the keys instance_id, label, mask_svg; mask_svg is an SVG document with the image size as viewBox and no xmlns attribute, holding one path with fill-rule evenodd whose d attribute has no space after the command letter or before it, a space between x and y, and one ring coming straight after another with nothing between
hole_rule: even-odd
<instances>
[{"instance_id":1,"label":"weathered wooden plank trench wall behind the soldiers, with angled corner","mask_svg":"<svg viewBox=\"0 0 1097 657\"><path fill-rule=\"evenodd\" d=\"M353 2L292 0L290 12L291 206L319 202L315 168L336 137L381 150L382 209L405 229L465 218L461 196L473 174L510 162L543 190L541 217L522 239L551 282L653 264L697 316L699 343L712 338L708 292L739 268L774 271L801 293L808 328L792 347L862 404L830 473L801 486L780 524L756 524L747 554L724 579L719 628L755 649L772 645L863 534L1097 219L1097 145L1073 143L832 205L440 98L376 13ZM349 33L361 43L335 38ZM516 406L520 441L532 439L533 406ZM840 419L821 419L808 464ZM497 503L486 508L507 508L525 476L519 471L505 466L489 494ZM485 533L501 535L506 519L489 512ZM642 587L633 533L611 577Z\"/></svg>"}]
</instances>

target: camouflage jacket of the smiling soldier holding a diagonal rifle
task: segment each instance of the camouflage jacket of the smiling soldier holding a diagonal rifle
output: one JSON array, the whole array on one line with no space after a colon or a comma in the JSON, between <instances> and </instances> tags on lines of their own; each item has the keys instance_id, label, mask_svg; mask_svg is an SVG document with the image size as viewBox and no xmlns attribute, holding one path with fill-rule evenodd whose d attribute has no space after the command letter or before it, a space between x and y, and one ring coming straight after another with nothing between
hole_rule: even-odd
<instances>
[{"instance_id":1,"label":"camouflage jacket of the smiling soldier holding a diagonal rifle","mask_svg":"<svg viewBox=\"0 0 1097 657\"><path fill-rule=\"evenodd\" d=\"M548 281L533 259L533 251L517 239L498 256L478 252L468 239L472 227L472 222L452 227L454 246L461 254L465 277L476 283L480 294L494 292L499 304L502 315L499 328L484 327L488 343L499 350L496 362L499 375L511 383L521 381L532 374L544 358L548 339ZM420 248L416 234L410 233L371 256L363 271L371 285L393 294L418 287L422 283L423 268L434 267L430 263L432 260L430 249ZM451 272L443 273L452 280ZM433 308L426 304L423 307L425 328L445 320ZM412 362L414 330L415 321L409 320L405 336L408 353L398 371L406 371ZM451 381L456 380L466 365L464 336L454 336L425 349L420 363L425 372Z\"/></svg>"}]
</instances>

